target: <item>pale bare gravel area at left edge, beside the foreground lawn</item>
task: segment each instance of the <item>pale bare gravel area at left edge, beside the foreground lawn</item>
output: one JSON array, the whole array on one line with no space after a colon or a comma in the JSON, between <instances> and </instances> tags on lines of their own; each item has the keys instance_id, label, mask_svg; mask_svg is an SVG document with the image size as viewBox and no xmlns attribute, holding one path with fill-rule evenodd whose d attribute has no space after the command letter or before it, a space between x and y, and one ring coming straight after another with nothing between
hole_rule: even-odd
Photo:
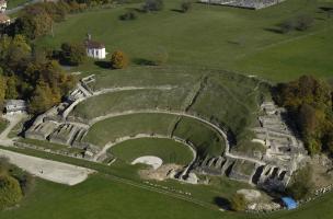
<instances>
[{"instance_id":1,"label":"pale bare gravel area at left edge, beside the foreground lawn","mask_svg":"<svg viewBox=\"0 0 333 219\"><path fill-rule=\"evenodd\" d=\"M89 174L94 172L90 169L25 155L2 149L0 149L0 157L8 158L11 163L35 176L66 185L76 185L81 183L88 177Z\"/></svg>"}]
</instances>

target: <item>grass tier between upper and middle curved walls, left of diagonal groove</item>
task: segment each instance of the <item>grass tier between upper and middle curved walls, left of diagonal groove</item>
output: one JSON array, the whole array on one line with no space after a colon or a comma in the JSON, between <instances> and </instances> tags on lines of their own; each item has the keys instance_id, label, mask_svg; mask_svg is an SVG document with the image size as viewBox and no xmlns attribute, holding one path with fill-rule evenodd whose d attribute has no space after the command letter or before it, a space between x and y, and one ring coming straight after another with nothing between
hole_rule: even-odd
<instances>
[{"instance_id":1,"label":"grass tier between upper and middle curved walls, left of diagonal groove","mask_svg":"<svg viewBox=\"0 0 333 219\"><path fill-rule=\"evenodd\" d=\"M108 113L142 110L180 111L188 95L188 89L133 90L105 93L88 99L76 106L72 116L92 119ZM93 108L93 110L92 110Z\"/></svg>"}]
</instances>

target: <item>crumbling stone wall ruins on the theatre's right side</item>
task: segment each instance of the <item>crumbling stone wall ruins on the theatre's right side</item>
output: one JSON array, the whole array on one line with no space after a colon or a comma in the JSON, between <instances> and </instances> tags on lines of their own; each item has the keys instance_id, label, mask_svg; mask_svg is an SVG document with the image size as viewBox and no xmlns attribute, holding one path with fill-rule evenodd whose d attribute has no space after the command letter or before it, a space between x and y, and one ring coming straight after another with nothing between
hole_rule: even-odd
<instances>
[{"instance_id":1,"label":"crumbling stone wall ruins on the theatre's right side","mask_svg":"<svg viewBox=\"0 0 333 219\"><path fill-rule=\"evenodd\" d=\"M303 143L288 128L284 112L273 102L261 105L260 127L253 128L256 138L252 140L265 147L261 158L206 157L198 160L193 170L202 174L226 175L265 189L284 191L292 173L307 158Z\"/></svg>"}]
</instances>

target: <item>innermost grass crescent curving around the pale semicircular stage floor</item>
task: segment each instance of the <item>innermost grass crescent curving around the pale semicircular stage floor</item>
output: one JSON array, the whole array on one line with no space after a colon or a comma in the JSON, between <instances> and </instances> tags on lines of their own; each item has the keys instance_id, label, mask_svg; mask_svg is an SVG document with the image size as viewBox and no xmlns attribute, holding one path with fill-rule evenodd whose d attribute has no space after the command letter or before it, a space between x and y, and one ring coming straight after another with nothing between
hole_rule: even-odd
<instances>
[{"instance_id":1,"label":"innermost grass crescent curving around the pale semicircular stage floor","mask_svg":"<svg viewBox=\"0 0 333 219\"><path fill-rule=\"evenodd\" d=\"M131 163L143 155L154 155L163 160L163 163L176 163L186 165L193 159L190 148L172 139L139 138L126 140L110 149L117 159Z\"/></svg>"}]
</instances>

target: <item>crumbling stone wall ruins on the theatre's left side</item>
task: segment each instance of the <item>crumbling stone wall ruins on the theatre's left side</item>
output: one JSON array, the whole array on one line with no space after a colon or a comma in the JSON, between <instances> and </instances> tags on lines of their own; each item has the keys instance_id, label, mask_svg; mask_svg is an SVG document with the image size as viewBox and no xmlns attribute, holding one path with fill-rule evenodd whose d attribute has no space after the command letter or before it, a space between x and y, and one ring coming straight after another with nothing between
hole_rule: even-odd
<instances>
[{"instance_id":1,"label":"crumbling stone wall ruins on the theatre's left side","mask_svg":"<svg viewBox=\"0 0 333 219\"><path fill-rule=\"evenodd\" d=\"M48 140L54 143L80 148L85 151L84 158L92 159L100 149L96 146L83 142L89 125L70 122L67 117L78 103L93 95L88 85L93 81L94 76L80 80L65 102L54 106L35 119L34 124L25 131L25 138Z\"/></svg>"}]
</instances>

